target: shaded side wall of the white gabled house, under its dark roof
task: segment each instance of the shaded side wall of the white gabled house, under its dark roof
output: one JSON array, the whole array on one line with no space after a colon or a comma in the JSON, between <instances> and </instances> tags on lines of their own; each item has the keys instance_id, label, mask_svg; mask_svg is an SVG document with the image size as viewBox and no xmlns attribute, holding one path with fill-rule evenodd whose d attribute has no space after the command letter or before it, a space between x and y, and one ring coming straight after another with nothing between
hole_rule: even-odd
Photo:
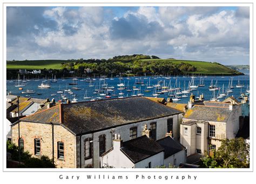
<instances>
[{"instance_id":1,"label":"shaded side wall of the white gabled house, under its dark roof","mask_svg":"<svg viewBox=\"0 0 256 184\"><path fill-rule=\"evenodd\" d=\"M150 156L138 163L135 163L135 168L147 168L151 162L151 168L156 168L164 164L164 152L160 152L156 155Z\"/></svg>"}]
</instances>

